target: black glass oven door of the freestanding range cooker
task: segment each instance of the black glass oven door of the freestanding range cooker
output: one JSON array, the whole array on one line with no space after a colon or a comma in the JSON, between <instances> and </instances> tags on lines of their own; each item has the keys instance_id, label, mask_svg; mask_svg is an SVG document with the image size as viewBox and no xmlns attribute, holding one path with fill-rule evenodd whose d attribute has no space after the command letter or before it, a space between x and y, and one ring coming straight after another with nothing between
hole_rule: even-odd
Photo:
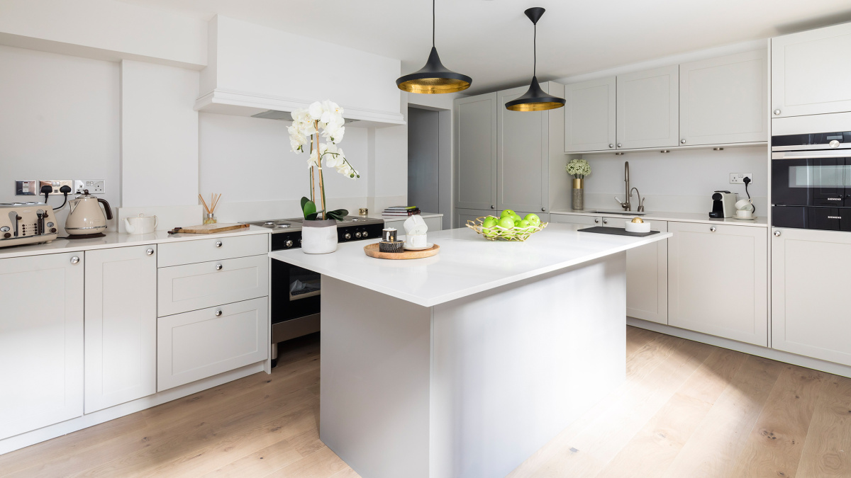
<instances>
[{"instance_id":1,"label":"black glass oven door of the freestanding range cooker","mask_svg":"<svg viewBox=\"0 0 851 478\"><path fill-rule=\"evenodd\" d=\"M322 276L312 270L271 261L271 322L318 314Z\"/></svg>"}]
</instances>

